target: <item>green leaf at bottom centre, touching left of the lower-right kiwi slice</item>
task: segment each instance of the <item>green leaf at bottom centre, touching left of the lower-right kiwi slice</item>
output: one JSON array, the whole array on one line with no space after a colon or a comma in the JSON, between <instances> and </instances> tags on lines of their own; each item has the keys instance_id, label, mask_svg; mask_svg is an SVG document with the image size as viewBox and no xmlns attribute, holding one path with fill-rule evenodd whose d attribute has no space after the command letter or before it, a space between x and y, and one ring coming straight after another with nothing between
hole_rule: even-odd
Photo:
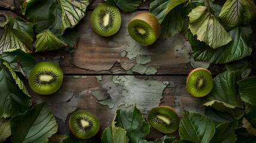
<instances>
[{"instance_id":1,"label":"green leaf at bottom centre, touching left of the lower-right kiwi slice","mask_svg":"<svg viewBox=\"0 0 256 143\"><path fill-rule=\"evenodd\" d=\"M116 110L115 125L127 130L130 142L146 139L150 125L145 121L143 114L136 106L131 110Z\"/></svg>"}]
</instances>

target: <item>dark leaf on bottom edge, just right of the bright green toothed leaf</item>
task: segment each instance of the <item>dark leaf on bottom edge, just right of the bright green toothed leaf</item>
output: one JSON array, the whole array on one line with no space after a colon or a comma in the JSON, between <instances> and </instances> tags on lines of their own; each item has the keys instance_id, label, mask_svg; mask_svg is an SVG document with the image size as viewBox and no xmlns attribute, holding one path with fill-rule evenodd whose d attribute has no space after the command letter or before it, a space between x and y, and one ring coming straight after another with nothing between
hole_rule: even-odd
<instances>
[{"instance_id":1,"label":"dark leaf on bottom edge, just right of the bright green toothed leaf","mask_svg":"<svg viewBox=\"0 0 256 143\"><path fill-rule=\"evenodd\" d=\"M224 122L217 126L211 143L235 142L235 130L238 128L238 121Z\"/></svg>"}]
</instances>

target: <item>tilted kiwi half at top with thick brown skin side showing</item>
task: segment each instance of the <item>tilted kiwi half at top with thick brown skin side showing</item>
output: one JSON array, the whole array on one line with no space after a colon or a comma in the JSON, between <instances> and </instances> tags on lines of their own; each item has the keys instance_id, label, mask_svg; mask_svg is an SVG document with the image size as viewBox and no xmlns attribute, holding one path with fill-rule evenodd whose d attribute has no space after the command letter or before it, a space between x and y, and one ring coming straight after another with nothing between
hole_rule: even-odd
<instances>
[{"instance_id":1,"label":"tilted kiwi half at top with thick brown skin side showing","mask_svg":"<svg viewBox=\"0 0 256 143\"><path fill-rule=\"evenodd\" d=\"M129 21L128 32L132 39L141 45L151 45L158 39L161 26L155 15L143 12Z\"/></svg>"}]
</instances>

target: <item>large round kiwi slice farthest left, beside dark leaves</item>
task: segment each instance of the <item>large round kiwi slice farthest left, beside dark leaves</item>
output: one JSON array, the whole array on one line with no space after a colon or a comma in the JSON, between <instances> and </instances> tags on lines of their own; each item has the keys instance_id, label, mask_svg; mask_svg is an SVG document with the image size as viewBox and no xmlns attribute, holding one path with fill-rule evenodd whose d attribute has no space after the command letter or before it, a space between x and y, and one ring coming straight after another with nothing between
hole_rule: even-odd
<instances>
[{"instance_id":1,"label":"large round kiwi slice farthest left, beside dark leaves","mask_svg":"<svg viewBox=\"0 0 256 143\"><path fill-rule=\"evenodd\" d=\"M30 88L36 93L53 94L62 85L63 71L51 61L42 61L33 67L28 79Z\"/></svg>"}]
</instances>

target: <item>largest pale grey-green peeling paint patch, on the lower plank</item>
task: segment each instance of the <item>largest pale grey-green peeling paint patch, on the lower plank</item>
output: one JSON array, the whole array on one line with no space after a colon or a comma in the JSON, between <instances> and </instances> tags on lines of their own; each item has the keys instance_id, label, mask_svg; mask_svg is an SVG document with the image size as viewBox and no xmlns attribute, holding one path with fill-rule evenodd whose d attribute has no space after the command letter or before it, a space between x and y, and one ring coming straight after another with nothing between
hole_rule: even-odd
<instances>
[{"instance_id":1,"label":"largest pale grey-green peeling paint patch, on the lower plank","mask_svg":"<svg viewBox=\"0 0 256 143\"><path fill-rule=\"evenodd\" d=\"M161 103L162 92L167 86L163 82L137 79L135 76L113 76L112 81L105 83L104 80L102 81L103 89L106 90L109 97L97 102L109 105L113 111L118 108L129 108L137 105L144 114ZM103 93L94 92L92 95L102 99ZM106 98L106 93L103 97Z\"/></svg>"}]
</instances>

